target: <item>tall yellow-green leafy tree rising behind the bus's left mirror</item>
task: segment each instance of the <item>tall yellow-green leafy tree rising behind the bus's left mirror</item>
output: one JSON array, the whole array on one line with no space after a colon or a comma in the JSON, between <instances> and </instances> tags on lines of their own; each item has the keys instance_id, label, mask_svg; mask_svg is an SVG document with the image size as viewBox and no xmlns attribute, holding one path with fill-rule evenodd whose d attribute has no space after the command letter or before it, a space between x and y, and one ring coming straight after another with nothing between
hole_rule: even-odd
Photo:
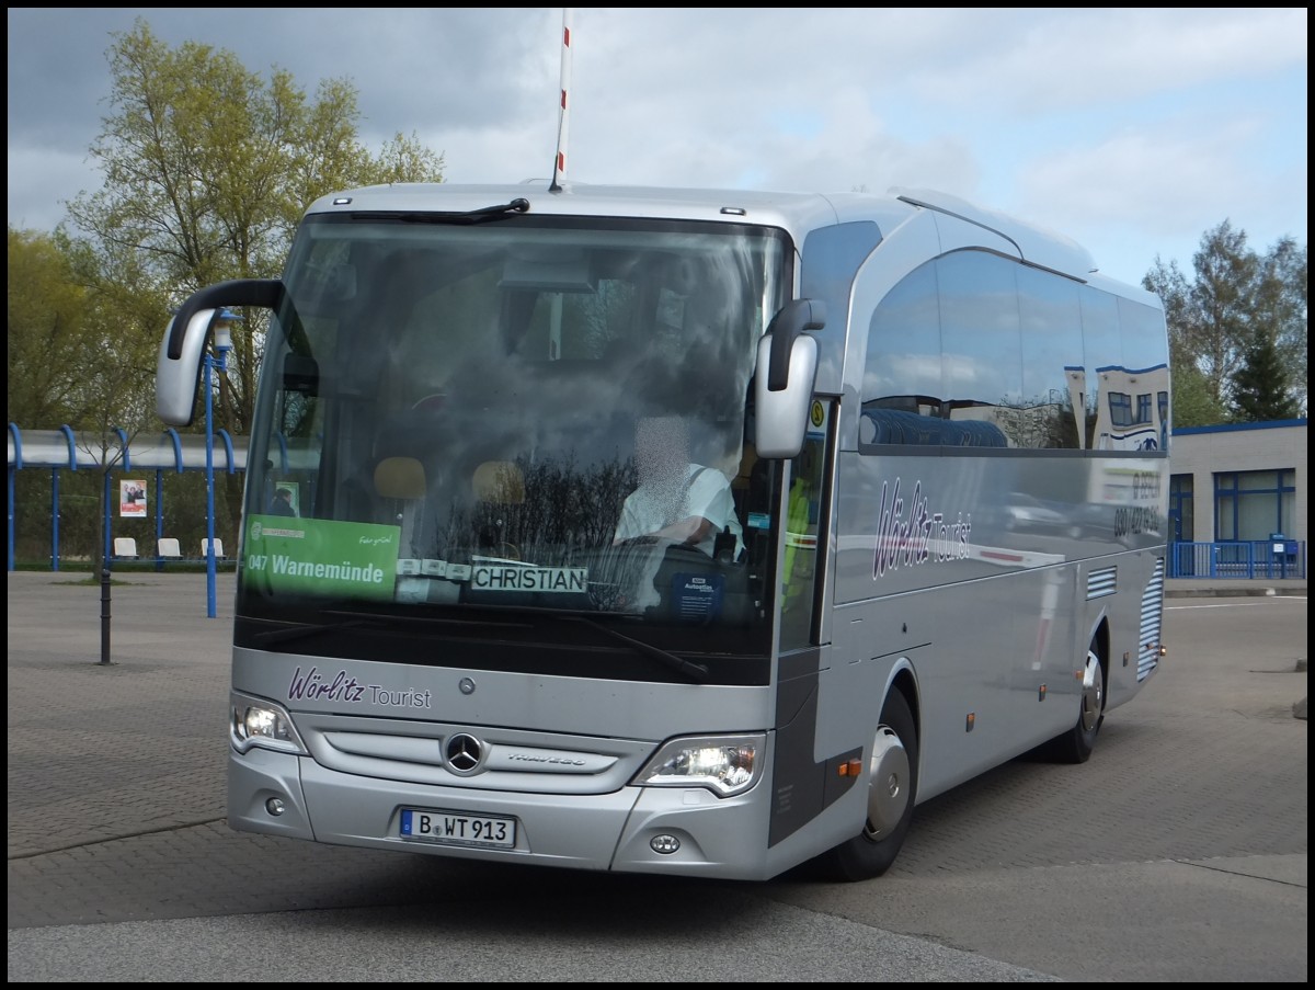
<instances>
[{"instance_id":1,"label":"tall yellow-green leafy tree rising behind the bus's left mirror","mask_svg":"<svg viewBox=\"0 0 1315 990\"><path fill-rule=\"evenodd\" d=\"M414 137L397 134L377 155L358 141L356 90L346 79L322 82L310 99L287 71L264 82L230 51L191 41L171 49L141 18L112 37L110 112L89 149L104 184L75 197L68 216L99 269L93 280L122 286L120 332L151 354L170 309L191 292L276 276L320 196L442 180L442 155ZM242 316L214 395L216 428L233 434L250 433L267 326L264 313ZM132 380L139 409L153 407L150 380ZM225 502L238 506L241 475L225 486Z\"/></svg>"}]
</instances>

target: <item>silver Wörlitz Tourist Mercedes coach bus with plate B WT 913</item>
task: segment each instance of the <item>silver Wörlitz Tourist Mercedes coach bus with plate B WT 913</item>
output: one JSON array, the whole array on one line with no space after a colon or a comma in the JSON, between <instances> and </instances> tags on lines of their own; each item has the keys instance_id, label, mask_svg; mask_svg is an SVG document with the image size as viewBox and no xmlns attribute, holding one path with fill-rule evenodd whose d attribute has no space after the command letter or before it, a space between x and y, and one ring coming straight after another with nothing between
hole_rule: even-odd
<instances>
[{"instance_id":1,"label":"silver W\u00f6rlitz Tourist Mercedes coach bus with plate B WT 913","mask_svg":"<svg viewBox=\"0 0 1315 990\"><path fill-rule=\"evenodd\" d=\"M1044 230L920 191L355 190L283 278L180 307L166 423L224 308L264 349L235 829L861 879L919 802L1082 762L1156 670L1164 312Z\"/></svg>"}]
</instances>

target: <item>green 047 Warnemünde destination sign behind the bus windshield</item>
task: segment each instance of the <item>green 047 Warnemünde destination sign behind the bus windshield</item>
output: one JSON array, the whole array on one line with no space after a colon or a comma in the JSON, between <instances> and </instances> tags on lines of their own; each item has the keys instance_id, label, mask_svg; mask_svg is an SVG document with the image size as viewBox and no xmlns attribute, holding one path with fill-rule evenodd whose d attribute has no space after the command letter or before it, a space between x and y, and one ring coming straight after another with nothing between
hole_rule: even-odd
<instances>
[{"instance_id":1,"label":"green 047 Warnem\u00fcnde destination sign behind the bus windshield","mask_svg":"<svg viewBox=\"0 0 1315 990\"><path fill-rule=\"evenodd\" d=\"M397 527L251 516L242 579L254 590L391 599Z\"/></svg>"}]
</instances>

